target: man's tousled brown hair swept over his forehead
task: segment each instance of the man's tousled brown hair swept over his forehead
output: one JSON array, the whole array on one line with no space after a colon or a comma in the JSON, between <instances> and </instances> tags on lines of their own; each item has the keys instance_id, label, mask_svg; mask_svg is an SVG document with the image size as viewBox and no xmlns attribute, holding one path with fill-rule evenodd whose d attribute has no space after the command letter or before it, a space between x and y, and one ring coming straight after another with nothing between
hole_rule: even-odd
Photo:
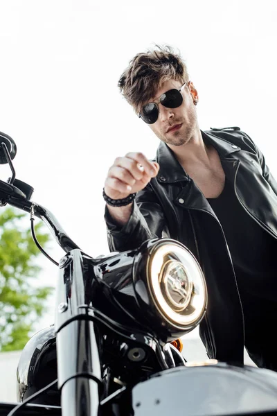
<instances>
[{"instance_id":1,"label":"man's tousled brown hair swept over his forehead","mask_svg":"<svg viewBox=\"0 0 277 416\"><path fill-rule=\"evenodd\" d=\"M134 56L120 76L118 87L127 102L139 113L141 106L153 98L163 83L171 79L187 83L186 64L170 46L155 45L154 49Z\"/></svg>"}]
</instances>

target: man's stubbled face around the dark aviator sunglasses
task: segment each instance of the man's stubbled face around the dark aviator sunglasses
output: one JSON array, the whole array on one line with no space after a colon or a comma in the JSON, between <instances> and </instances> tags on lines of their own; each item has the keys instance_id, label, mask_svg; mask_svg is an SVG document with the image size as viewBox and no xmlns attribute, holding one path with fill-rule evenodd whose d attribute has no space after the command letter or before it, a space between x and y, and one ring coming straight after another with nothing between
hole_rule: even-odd
<instances>
[{"instance_id":1,"label":"man's stubbled face around the dark aviator sunglasses","mask_svg":"<svg viewBox=\"0 0 277 416\"><path fill-rule=\"evenodd\" d=\"M159 100L161 94L170 89L180 89L181 82L169 80L157 89L155 96L150 102ZM188 83L181 90L183 103L177 108L167 108L158 103L159 117L157 121L150 124L151 130L165 143L173 146L182 146L186 144L193 135L197 127L197 114L195 111L194 100L198 99L197 91L193 83Z\"/></svg>"}]
</instances>

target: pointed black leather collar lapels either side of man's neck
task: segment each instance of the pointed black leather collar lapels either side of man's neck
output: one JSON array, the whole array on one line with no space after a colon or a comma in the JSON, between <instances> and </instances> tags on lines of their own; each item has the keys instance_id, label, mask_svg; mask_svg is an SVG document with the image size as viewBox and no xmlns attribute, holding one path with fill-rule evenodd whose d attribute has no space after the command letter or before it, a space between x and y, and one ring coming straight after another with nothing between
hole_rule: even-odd
<instances>
[{"instance_id":1,"label":"pointed black leather collar lapels either side of man's neck","mask_svg":"<svg viewBox=\"0 0 277 416\"><path fill-rule=\"evenodd\" d=\"M201 133L203 140L205 142L208 141L217 150L220 158L229 157L229 155L241 150L230 141L217 137L211 132L201 131ZM158 182L165 184L190 180L184 168L179 164L175 154L163 141L161 141L157 149L156 160L160 165L157 175Z\"/></svg>"}]
</instances>

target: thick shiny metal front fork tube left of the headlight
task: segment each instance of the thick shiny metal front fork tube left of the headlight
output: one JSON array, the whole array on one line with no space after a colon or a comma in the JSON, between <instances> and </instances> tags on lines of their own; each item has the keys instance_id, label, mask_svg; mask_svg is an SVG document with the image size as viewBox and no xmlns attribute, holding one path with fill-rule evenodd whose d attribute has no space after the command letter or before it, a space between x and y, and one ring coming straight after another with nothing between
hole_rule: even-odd
<instances>
[{"instance_id":1,"label":"thick shiny metal front fork tube left of the headlight","mask_svg":"<svg viewBox=\"0 0 277 416\"><path fill-rule=\"evenodd\" d=\"M75 249L60 261L55 331L62 416L99 415L102 377L84 257Z\"/></svg>"}]
</instances>

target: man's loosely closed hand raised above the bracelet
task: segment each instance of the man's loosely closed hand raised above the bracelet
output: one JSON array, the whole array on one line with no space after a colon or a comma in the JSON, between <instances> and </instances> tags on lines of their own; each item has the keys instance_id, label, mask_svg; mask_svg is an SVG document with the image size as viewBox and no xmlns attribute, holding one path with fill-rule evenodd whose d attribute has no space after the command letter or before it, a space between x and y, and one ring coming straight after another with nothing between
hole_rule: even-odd
<instances>
[{"instance_id":1,"label":"man's loosely closed hand raised above the bracelet","mask_svg":"<svg viewBox=\"0 0 277 416\"><path fill-rule=\"evenodd\" d=\"M142 153L127 153L125 157L116 157L105 180L105 193L115 200L127 198L130 193L145 188L158 172L159 164L149 162Z\"/></svg>"}]
</instances>

